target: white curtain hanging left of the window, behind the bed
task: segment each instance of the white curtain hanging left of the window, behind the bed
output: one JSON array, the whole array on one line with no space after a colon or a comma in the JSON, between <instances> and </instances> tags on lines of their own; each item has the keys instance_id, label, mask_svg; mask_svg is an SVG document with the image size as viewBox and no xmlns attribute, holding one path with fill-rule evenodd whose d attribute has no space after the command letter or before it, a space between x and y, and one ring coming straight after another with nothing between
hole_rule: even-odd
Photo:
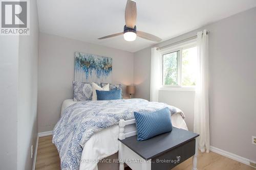
<instances>
[{"instance_id":1,"label":"white curtain hanging left of the window, behind the bed","mask_svg":"<svg viewBox=\"0 0 256 170\"><path fill-rule=\"evenodd\" d=\"M150 101L158 102L158 91L161 86L161 56L157 47L151 48Z\"/></svg>"}]
</instances>

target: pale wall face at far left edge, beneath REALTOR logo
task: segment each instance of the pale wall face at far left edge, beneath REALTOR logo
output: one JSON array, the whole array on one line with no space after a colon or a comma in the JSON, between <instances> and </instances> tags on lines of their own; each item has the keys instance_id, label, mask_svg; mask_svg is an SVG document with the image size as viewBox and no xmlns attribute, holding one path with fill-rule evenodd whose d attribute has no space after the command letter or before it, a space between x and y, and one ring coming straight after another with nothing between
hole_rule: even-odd
<instances>
[{"instance_id":1,"label":"pale wall face at far left edge, beneath REALTOR logo","mask_svg":"<svg viewBox=\"0 0 256 170\"><path fill-rule=\"evenodd\" d=\"M0 164L17 169L18 36L0 38Z\"/></svg>"}]
</instances>

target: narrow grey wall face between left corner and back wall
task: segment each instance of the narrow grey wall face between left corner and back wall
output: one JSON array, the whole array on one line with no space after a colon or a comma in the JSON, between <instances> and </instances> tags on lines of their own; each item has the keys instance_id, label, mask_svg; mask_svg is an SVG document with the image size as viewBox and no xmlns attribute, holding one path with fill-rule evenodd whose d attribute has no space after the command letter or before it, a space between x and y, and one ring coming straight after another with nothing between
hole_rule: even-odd
<instances>
[{"instance_id":1,"label":"narrow grey wall face between left corner and back wall","mask_svg":"<svg viewBox=\"0 0 256 170\"><path fill-rule=\"evenodd\" d=\"M32 169L38 133L37 123L38 17L36 1L30 1L30 35L19 38L17 167Z\"/></svg>"}]
</instances>

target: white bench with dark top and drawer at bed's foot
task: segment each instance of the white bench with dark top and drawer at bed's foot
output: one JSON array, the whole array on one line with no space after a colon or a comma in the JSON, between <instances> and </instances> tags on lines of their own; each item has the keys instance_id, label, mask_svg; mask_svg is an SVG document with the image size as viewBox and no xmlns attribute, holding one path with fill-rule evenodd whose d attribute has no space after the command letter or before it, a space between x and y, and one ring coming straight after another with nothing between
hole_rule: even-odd
<instances>
[{"instance_id":1,"label":"white bench with dark top and drawer at bed's foot","mask_svg":"<svg viewBox=\"0 0 256 170\"><path fill-rule=\"evenodd\" d=\"M118 139L122 160L133 170L169 170L191 156L193 170L197 169L199 134L173 127L173 131L155 136L151 139L138 141L137 135ZM120 170L122 166L120 166Z\"/></svg>"}]
</instances>

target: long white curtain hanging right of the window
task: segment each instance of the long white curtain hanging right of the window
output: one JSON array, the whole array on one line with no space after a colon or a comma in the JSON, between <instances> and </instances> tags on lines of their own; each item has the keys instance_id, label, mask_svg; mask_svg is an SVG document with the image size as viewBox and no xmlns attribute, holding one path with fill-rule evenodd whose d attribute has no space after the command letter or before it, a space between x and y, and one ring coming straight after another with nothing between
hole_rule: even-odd
<instances>
[{"instance_id":1,"label":"long white curtain hanging right of the window","mask_svg":"<svg viewBox=\"0 0 256 170\"><path fill-rule=\"evenodd\" d=\"M197 33L198 60L195 91L194 132L200 134L199 149L210 150L208 104L208 35L206 30Z\"/></svg>"}]
</instances>

